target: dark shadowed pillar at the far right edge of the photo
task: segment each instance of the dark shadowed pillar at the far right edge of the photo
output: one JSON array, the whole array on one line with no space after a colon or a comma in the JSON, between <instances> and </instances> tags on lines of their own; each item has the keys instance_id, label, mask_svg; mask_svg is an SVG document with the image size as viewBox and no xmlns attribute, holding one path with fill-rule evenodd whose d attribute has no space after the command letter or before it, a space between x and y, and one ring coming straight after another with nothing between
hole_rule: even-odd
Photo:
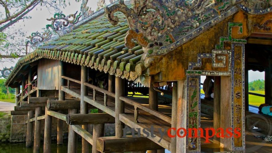
<instances>
[{"instance_id":1,"label":"dark shadowed pillar at the far right edge of the photo","mask_svg":"<svg viewBox=\"0 0 272 153\"><path fill-rule=\"evenodd\" d=\"M268 67L265 68L265 103L272 105L272 62L268 59Z\"/></svg>"}]
</instances>

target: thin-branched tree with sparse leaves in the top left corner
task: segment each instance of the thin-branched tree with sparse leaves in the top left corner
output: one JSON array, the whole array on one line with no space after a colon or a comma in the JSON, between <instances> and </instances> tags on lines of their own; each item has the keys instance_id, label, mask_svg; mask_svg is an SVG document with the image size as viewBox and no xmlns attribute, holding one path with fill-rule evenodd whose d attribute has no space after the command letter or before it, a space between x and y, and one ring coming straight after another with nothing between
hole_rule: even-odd
<instances>
[{"instance_id":1,"label":"thin-branched tree with sparse leaves in the top left corner","mask_svg":"<svg viewBox=\"0 0 272 153\"><path fill-rule=\"evenodd\" d=\"M70 5L69 0L0 0L0 58L20 57L25 47L23 46L25 42L16 39L25 36L24 32L20 29L12 29L12 25L19 20L30 19L27 14L37 6L54 8L58 12L59 8L66 7L67 2Z\"/></svg>"}]
</instances>

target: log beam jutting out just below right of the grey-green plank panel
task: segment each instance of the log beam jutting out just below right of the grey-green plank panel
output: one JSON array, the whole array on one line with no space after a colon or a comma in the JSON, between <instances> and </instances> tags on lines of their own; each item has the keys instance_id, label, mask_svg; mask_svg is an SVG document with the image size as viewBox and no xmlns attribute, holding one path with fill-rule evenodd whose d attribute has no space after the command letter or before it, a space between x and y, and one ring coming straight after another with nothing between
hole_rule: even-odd
<instances>
[{"instance_id":1,"label":"log beam jutting out just below right of the grey-green plank panel","mask_svg":"<svg viewBox=\"0 0 272 153\"><path fill-rule=\"evenodd\" d=\"M48 100L46 107L49 110L60 110L60 109L79 109L79 100Z\"/></svg>"}]
</instances>

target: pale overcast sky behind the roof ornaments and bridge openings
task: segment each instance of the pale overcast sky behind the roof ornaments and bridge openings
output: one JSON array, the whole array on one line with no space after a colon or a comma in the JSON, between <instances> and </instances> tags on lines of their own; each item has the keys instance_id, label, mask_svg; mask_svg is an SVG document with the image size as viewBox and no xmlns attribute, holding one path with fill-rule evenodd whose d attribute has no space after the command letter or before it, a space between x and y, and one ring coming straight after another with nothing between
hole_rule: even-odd
<instances>
[{"instance_id":1,"label":"pale overcast sky behind the roof ornaments and bridge openings","mask_svg":"<svg viewBox=\"0 0 272 153\"><path fill-rule=\"evenodd\" d=\"M91 7L92 10L96 10L97 8L97 1L98 0L89 0L87 6ZM105 0L106 4L109 4L109 0ZM81 2L75 2L75 0L70 0L70 5L67 4L67 7L65 9L62 8L62 12L65 15L74 14L76 11L80 11ZM78 12L79 13L79 12ZM15 23L15 28L22 28L26 36L30 36L32 32L40 31L42 32L42 28L45 28L47 24L50 24L51 21L47 21L46 19L53 17L54 10L48 10L46 7L37 7L36 9L33 9L30 13L28 13L28 16L31 16L32 18L29 20L20 20L19 22ZM1 62L0 64L0 70L3 67L11 67L15 66L17 61L12 62ZM204 81L205 77L202 77L201 80ZM249 71L249 82L257 79L264 79L264 72L260 73L258 71ZM203 82L202 81L202 82Z\"/></svg>"}]
</instances>

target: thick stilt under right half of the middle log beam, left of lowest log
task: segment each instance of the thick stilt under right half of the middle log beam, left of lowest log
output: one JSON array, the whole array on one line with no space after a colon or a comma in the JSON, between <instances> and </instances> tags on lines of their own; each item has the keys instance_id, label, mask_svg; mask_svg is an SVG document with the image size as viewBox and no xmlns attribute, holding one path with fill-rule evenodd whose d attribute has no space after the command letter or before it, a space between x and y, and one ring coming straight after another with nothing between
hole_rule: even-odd
<instances>
[{"instance_id":1,"label":"thick stilt under right half of the middle log beam, left of lowest log","mask_svg":"<svg viewBox=\"0 0 272 153\"><path fill-rule=\"evenodd\" d=\"M96 139L102 136L104 136L104 123L94 124L92 153L99 153L99 151L97 150Z\"/></svg>"}]
</instances>

